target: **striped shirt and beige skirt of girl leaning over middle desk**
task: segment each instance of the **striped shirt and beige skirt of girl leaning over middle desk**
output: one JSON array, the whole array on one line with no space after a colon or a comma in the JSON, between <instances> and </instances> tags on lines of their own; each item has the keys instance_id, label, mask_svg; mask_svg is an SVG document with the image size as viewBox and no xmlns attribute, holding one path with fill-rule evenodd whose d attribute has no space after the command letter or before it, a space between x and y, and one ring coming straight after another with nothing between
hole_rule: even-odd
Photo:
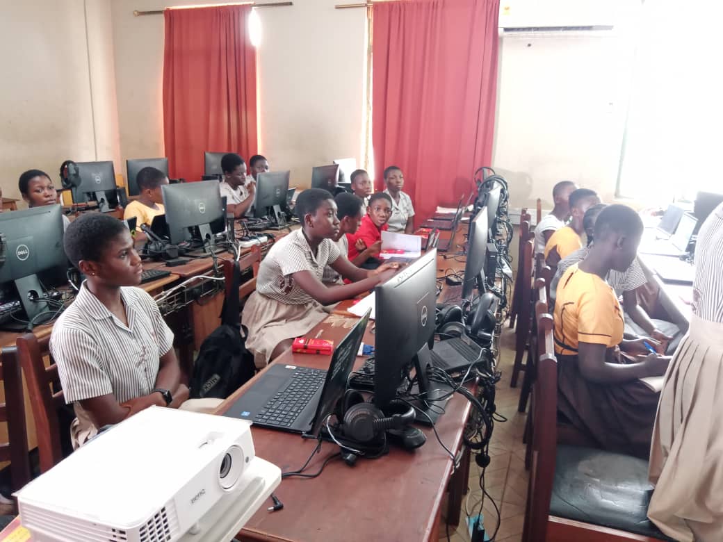
<instances>
[{"instance_id":1,"label":"striped shirt and beige skirt of girl leaning over middle desk","mask_svg":"<svg viewBox=\"0 0 723 542\"><path fill-rule=\"evenodd\" d=\"M309 271L322 280L324 268L339 256L338 246L331 239L322 240L314 253L301 228L271 247L259 267L256 291L241 316L249 330L246 346L254 354L257 367L268 364L278 343L307 334L327 317L321 304L291 275Z\"/></svg>"}]
</instances>

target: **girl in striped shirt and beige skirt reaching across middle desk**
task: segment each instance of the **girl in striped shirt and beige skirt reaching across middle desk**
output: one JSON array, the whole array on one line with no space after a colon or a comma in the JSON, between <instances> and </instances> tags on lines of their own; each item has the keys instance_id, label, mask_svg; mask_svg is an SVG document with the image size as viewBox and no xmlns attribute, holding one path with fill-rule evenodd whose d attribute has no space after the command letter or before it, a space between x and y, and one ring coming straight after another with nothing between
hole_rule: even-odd
<instances>
[{"instance_id":1,"label":"girl in striped shirt and beige skirt reaching across middle desk","mask_svg":"<svg viewBox=\"0 0 723 542\"><path fill-rule=\"evenodd\" d=\"M305 335L327 313L322 308L352 298L390 278L394 265L361 270L339 252L332 239L339 233L336 204L323 189L307 189L296 200L301 228L277 241L261 261L256 291L244 306L248 328L246 346L263 367ZM330 265L352 284L325 286L324 268Z\"/></svg>"}]
</instances>

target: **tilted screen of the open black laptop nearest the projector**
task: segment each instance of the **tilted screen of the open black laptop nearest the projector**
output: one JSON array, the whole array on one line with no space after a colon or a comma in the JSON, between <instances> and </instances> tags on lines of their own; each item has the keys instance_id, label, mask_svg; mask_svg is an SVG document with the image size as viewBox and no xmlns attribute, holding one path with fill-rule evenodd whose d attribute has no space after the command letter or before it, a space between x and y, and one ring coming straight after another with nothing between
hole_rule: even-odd
<instances>
[{"instance_id":1,"label":"tilted screen of the open black laptop nearest the projector","mask_svg":"<svg viewBox=\"0 0 723 542\"><path fill-rule=\"evenodd\" d=\"M326 381L322 388L321 397L319 397L319 404L314 415L314 421L312 421L312 429L307 434L318 436L322 424L325 423L326 418L333 413L336 403L338 403L338 400L340 400L344 392L346 392L346 384L351 370L354 369L356 353L359 351L359 345L361 344L361 338L364 337L364 331L367 330L367 322L369 322L369 314L371 313L372 309L369 309L367 314L364 314L364 316L359 319L359 322L356 322L354 327L351 328L351 331L348 332L346 337L344 337L341 343L334 349L334 355L331 357L329 370L326 372Z\"/></svg>"}]
</instances>

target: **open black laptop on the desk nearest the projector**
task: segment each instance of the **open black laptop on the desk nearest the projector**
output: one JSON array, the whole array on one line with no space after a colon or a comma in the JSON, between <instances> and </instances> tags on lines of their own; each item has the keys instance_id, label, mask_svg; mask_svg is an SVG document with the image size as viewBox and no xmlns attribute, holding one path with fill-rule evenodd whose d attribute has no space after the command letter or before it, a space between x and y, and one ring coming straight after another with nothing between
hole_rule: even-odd
<instances>
[{"instance_id":1,"label":"open black laptop on the desk nearest the projector","mask_svg":"<svg viewBox=\"0 0 723 542\"><path fill-rule=\"evenodd\" d=\"M334 349L328 371L272 364L224 416L249 420L269 429L316 436L346 391L371 312L369 309Z\"/></svg>"}]
</instances>

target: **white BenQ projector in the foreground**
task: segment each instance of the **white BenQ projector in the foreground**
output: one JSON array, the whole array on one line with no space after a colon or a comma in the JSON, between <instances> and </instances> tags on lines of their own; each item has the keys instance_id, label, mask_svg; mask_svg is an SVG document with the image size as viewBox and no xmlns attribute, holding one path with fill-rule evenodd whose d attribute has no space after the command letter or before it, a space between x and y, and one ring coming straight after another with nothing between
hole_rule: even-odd
<instances>
[{"instance_id":1,"label":"white BenQ projector in the foreground","mask_svg":"<svg viewBox=\"0 0 723 542\"><path fill-rule=\"evenodd\" d=\"M152 407L16 495L37 542L228 542L280 482L249 422Z\"/></svg>"}]
</instances>

